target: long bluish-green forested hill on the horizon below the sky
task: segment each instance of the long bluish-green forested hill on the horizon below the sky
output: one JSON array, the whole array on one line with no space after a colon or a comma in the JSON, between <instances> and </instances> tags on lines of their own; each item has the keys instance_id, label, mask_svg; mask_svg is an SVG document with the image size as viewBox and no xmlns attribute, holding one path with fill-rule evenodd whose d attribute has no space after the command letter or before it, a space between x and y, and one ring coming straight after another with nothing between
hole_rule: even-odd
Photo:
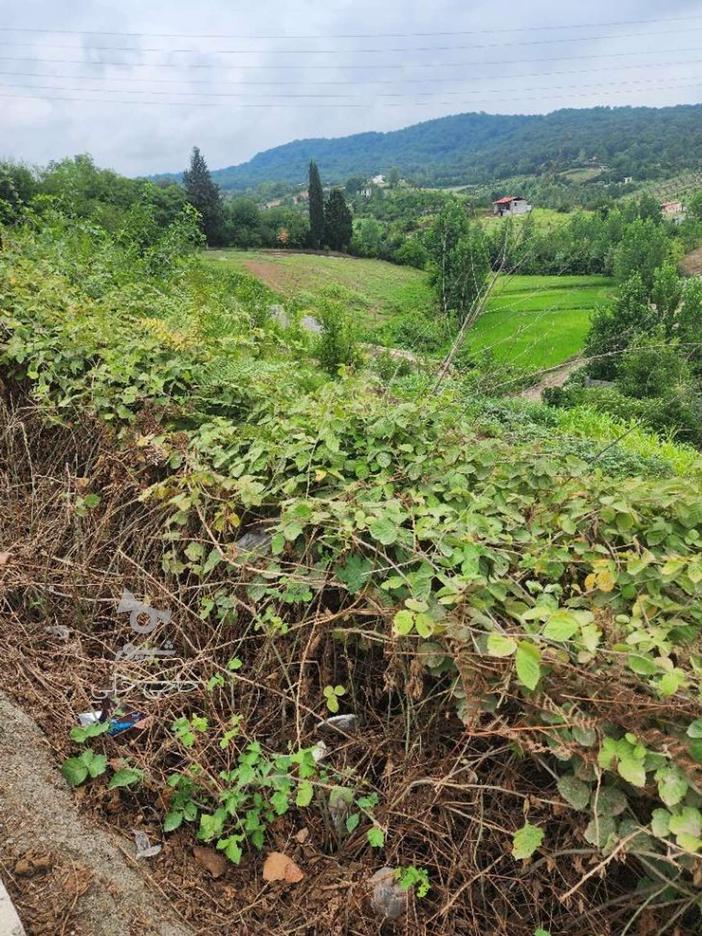
<instances>
[{"instance_id":1,"label":"long bluish-green forested hill on the horizon below the sky","mask_svg":"<svg viewBox=\"0 0 702 936\"><path fill-rule=\"evenodd\" d=\"M702 164L702 105L457 114L389 133L296 140L213 176L224 189L303 182L310 159L328 182L397 166L417 182L450 185L568 169L587 160L604 164L613 178L664 177Z\"/></svg>"}]
</instances>

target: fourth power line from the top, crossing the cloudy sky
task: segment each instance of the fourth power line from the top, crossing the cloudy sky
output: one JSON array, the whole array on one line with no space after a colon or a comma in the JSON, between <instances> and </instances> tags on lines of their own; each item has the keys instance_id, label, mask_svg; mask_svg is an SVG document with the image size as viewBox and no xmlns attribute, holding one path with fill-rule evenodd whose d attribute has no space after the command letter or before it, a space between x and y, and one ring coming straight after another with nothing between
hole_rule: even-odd
<instances>
[{"instance_id":1,"label":"fourth power line from the top, crossing the cloudy sky","mask_svg":"<svg viewBox=\"0 0 702 936\"><path fill-rule=\"evenodd\" d=\"M702 59L688 59L687 61L678 60L677 62L649 62L646 64L637 64L637 65L617 65L617 71L632 71L642 68L684 68L689 65L702 65ZM605 68L589 68L587 71L583 71L581 68L576 69L565 69L561 71L551 71L551 72L524 72L516 75L504 75L504 78L553 78L559 75L584 75L584 74L595 74L598 72L611 72L612 67L608 66ZM46 74L44 72L18 72L18 71L0 71L0 75L6 75L9 77L17 76L20 78L51 78L51 79L61 79L61 80L81 80L84 76L82 75L52 75ZM480 78L480 75L466 75L466 79L475 80ZM119 76L112 77L110 75L90 75L90 81L122 81L122 82L131 82L139 84L181 84L182 81L188 81L191 85L211 85L213 79L192 79L192 78L130 78L128 76ZM316 87L330 87L330 86L343 86L343 87L356 87L357 85L396 85L396 84L444 84L446 82L452 82L456 84L459 79L456 78L377 78L377 79L353 79L346 81L301 81L297 85L310 85ZM234 85L239 87L240 85L247 86L256 86L256 87L290 87L289 81L218 81L218 85ZM146 89L144 89L146 90Z\"/></svg>"}]
</instances>

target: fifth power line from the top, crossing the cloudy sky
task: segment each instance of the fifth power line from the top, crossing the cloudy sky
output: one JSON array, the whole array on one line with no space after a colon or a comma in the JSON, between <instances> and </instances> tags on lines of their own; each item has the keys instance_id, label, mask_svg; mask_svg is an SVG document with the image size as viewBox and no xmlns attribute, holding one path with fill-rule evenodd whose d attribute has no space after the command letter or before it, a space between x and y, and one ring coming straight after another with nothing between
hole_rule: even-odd
<instances>
[{"instance_id":1,"label":"fifth power line from the top, crossing the cloudy sky","mask_svg":"<svg viewBox=\"0 0 702 936\"><path fill-rule=\"evenodd\" d=\"M642 79L640 79L640 80L634 79L633 81L620 81L620 82L617 83L617 86L619 87L619 86L621 86L621 85L635 85L636 87L639 87L639 86L641 86L641 85L644 85L644 86L645 86L645 85L658 85L659 83L660 83L660 82L659 82L657 79L655 79L655 78L653 78L653 79L651 79L651 78L642 78ZM694 82L685 82L685 83L683 83L682 87L696 87L696 86L698 86L698 85L699 85L699 86L702 86L702 76L699 76L697 81L694 81ZM205 92L205 91L173 91L173 90L168 90L168 91L153 91L153 90L150 90L150 89L148 89L148 88L135 88L134 90L131 90L131 89L129 89L129 88L87 88L87 87L84 87L84 86L78 87L78 88L64 88L64 87L57 87L57 86L55 86L55 85L26 85L26 84L14 85L14 84L10 84L9 82L0 82L0 87L17 88L17 89L26 89L26 90L30 90L30 91L31 91L31 90L36 90L36 91L75 91L75 92L78 92L78 93L95 92L95 93L98 93L98 94L177 95L177 96L179 96L179 97L198 97L198 98L199 98L199 97L204 97L204 98L259 98L259 97L266 97L266 98L268 98L268 97L275 97L275 98L281 98L281 99L286 99L286 100L287 100L287 99L308 99L308 98L309 98L309 99L315 99L315 98L335 98L335 99L341 98L341 99L348 99L348 98L350 98L351 100L358 100L358 95L338 94L338 93L334 93L334 92L332 92L332 93L330 93L330 94L319 94L319 93L314 93L314 94L298 94L298 93L285 94L285 93L280 93L280 92L276 91L276 92L273 92L273 93L270 93L270 94L246 94L246 93L239 94L239 93L236 93L236 92L229 92L229 91L206 91L206 92ZM609 88L609 87L611 87L611 83L610 83L610 82L599 82L599 83L597 83L597 84L591 84L591 85L584 85L582 82L578 82L578 84L571 84L571 85L550 85L549 87L533 87L533 88L521 88L521 87L520 87L518 90L519 90L519 91L525 91L525 92L532 92L532 91L533 91L533 92L539 92L539 91L548 91L548 92L551 92L551 91L554 91L554 90L555 90L555 91L569 91L569 90L577 89L577 88L592 90L592 89ZM375 99L378 99L378 98L407 98L407 97L410 97L410 96L412 96L412 95L417 96L417 97L437 97L437 96L441 96L441 95L447 95L447 96L452 96L452 97L454 97L454 96L457 96L457 95L460 95L460 94L470 94L470 95L504 94L505 92L508 92L508 91L510 91L510 88L476 88L476 89L474 89L474 90L469 90L469 91L466 91L466 90L461 90L461 91L446 91L446 90L442 90L442 91L424 91L424 92L411 92L410 94L403 94L403 93L400 93L400 92L380 92L380 93L374 95L374 98L375 98Z\"/></svg>"}]
</instances>

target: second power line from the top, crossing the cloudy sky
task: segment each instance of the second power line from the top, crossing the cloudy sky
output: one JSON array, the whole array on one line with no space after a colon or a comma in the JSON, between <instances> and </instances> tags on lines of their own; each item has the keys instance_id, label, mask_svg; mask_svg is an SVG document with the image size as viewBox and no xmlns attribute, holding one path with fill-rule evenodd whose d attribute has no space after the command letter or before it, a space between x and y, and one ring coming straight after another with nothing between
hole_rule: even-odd
<instances>
[{"instance_id":1,"label":"second power line from the top, crossing the cloudy sky","mask_svg":"<svg viewBox=\"0 0 702 936\"><path fill-rule=\"evenodd\" d=\"M660 36L677 36L680 33L699 32L702 26L686 29L668 29L652 33L618 33L608 36L576 36L566 39L530 39L524 42L491 42L484 45L445 45L445 46L400 46L386 49L138 49L133 46L92 46L84 49L74 45L46 45L48 49L68 49L87 52L163 52L168 55L262 55L266 52L278 55L386 55L404 52L469 52L482 49L516 48L521 46L563 45L567 42L605 42L610 39L657 39ZM326 38L326 37L325 37ZM0 45L34 48L33 42L2 41Z\"/></svg>"}]
</instances>

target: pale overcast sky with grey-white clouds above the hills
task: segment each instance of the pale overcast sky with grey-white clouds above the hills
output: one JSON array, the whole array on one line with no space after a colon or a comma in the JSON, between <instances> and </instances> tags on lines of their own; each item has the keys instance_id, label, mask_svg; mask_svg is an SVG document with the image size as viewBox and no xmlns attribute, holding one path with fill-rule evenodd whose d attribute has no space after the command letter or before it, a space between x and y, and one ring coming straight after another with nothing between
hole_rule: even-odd
<instances>
[{"instance_id":1,"label":"pale overcast sky with grey-white clouds above the hills","mask_svg":"<svg viewBox=\"0 0 702 936\"><path fill-rule=\"evenodd\" d=\"M467 111L702 102L702 0L0 0L0 158L127 175Z\"/></svg>"}]
</instances>

